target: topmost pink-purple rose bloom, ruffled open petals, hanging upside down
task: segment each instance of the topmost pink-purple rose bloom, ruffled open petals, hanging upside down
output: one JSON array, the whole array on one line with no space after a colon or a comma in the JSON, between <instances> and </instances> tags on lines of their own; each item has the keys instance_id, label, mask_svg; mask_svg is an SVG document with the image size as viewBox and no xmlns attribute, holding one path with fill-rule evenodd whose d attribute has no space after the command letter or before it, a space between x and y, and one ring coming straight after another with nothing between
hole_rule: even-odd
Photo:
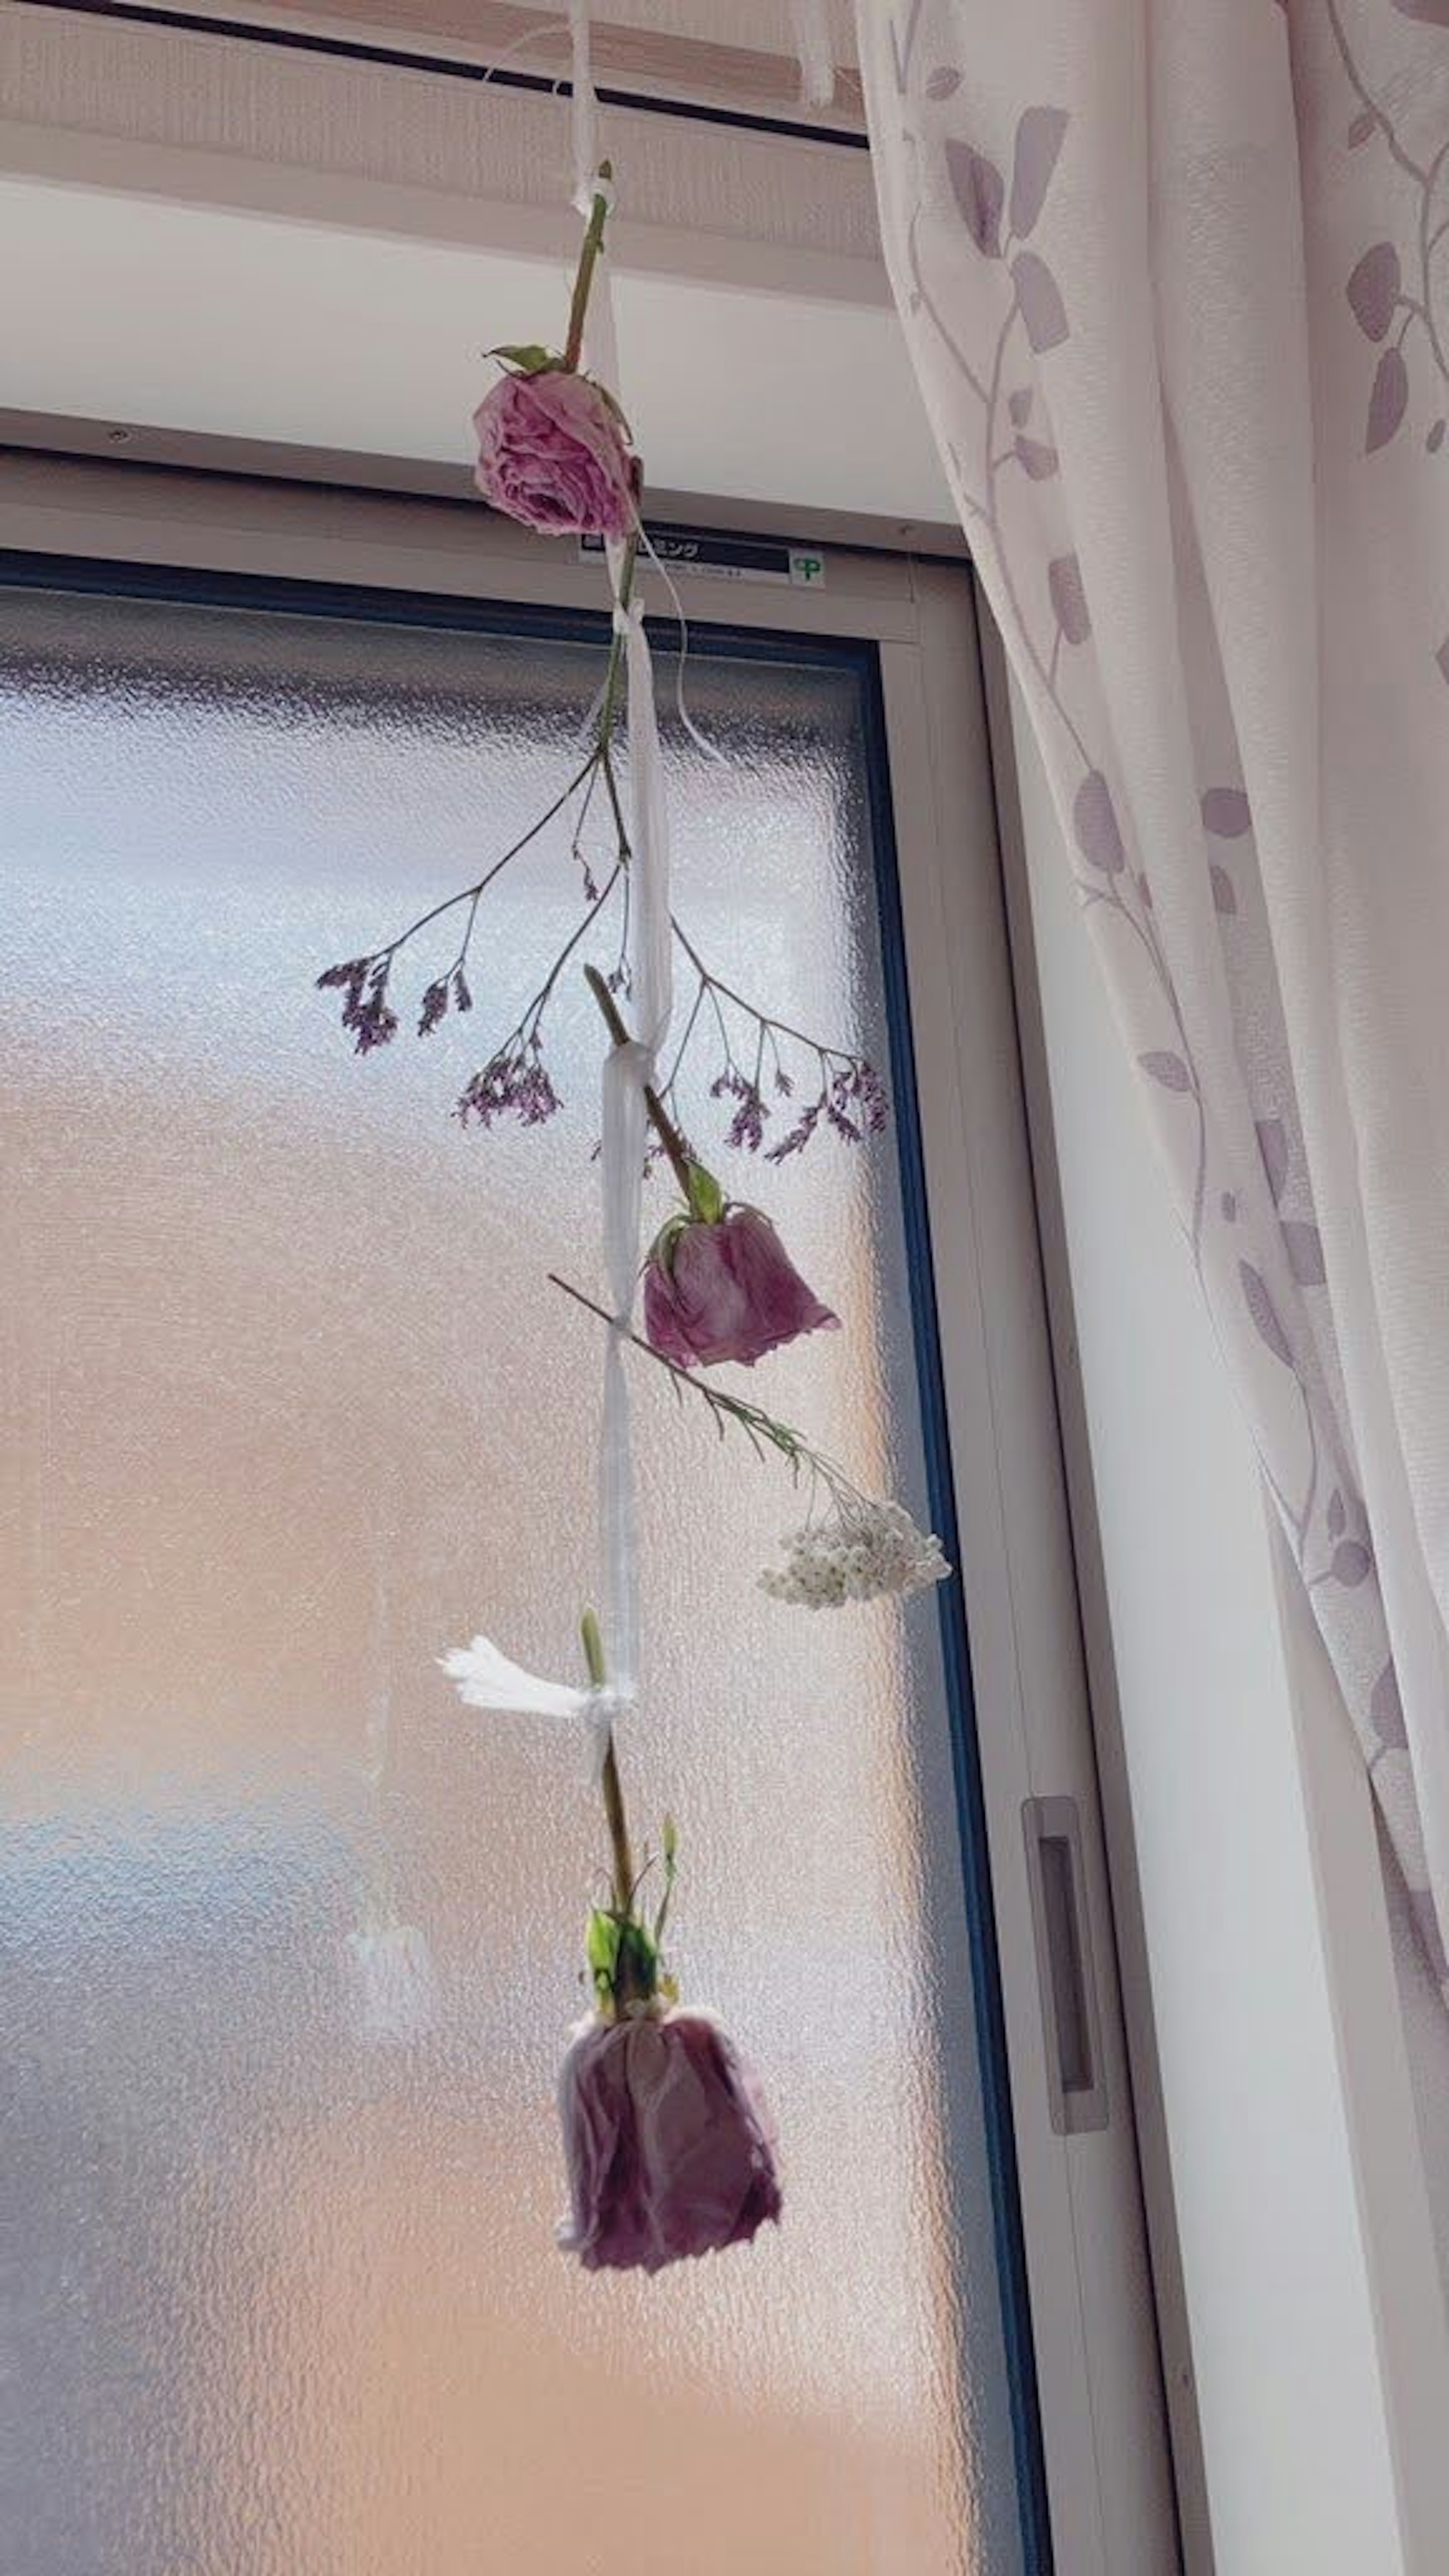
<instances>
[{"instance_id":1,"label":"topmost pink-purple rose bloom, ruffled open petals, hanging upside down","mask_svg":"<svg viewBox=\"0 0 1449 2576\"><path fill-rule=\"evenodd\" d=\"M557 366L503 376L472 425L474 482L495 510L539 536L632 533L637 464L619 415L588 376Z\"/></svg>"}]
</instances>

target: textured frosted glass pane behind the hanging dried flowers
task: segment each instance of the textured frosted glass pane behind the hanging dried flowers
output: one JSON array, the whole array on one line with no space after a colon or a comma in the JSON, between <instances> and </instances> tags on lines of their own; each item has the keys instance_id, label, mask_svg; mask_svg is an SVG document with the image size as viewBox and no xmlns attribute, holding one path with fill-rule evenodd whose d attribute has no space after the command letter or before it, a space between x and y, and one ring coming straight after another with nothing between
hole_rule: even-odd
<instances>
[{"instance_id":1,"label":"textured frosted glass pane behind the hanging dried flowers","mask_svg":"<svg viewBox=\"0 0 1449 2576\"><path fill-rule=\"evenodd\" d=\"M5 2576L1018 2568L936 1605L766 1600L789 1486L647 1363L627 1772L786 2218L655 2282L552 2249L596 1806L433 1656L570 1674L596 1592L598 1332L544 1288L598 1288L575 976L565 1115L449 1118L575 917L567 832L472 1020L358 1064L312 974L539 811L596 683L0 595ZM884 1061L856 680L691 662L691 706L686 922ZM923 1512L892 1141L727 1180L848 1316L750 1394Z\"/></svg>"}]
</instances>

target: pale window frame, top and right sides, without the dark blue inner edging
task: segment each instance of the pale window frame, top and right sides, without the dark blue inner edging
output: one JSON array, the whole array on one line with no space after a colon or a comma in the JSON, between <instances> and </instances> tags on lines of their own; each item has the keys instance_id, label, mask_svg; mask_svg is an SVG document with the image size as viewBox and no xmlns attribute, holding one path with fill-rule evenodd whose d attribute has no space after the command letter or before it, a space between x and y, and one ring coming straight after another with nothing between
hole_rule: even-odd
<instances>
[{"instance_id":1,"label":"pale window frame, top and right sides, without the dark blue inner edging","mask_svg":"<svg viewBox=\"0 0 1449 2576\"><path fill-rule=\"evenodd\" d=\"M485 513L10 456L0 546L443 598L598 605ZM1003 1976L1042 2442L1062 2576L1178 2566L1132 2084L1052 1383L975 585L833 554L822 590L699 582L691 621L879 647L928 1211ZM1021 1806L1080 1811L1111 2123L1060 2138ZM1070 2550L1070 2555L1067 2555ZM1199 2563L1201 2566L1201 2563ZM1196 2571L1194 2571L1196 2576Z\"/></svg>"}]
</instances>

